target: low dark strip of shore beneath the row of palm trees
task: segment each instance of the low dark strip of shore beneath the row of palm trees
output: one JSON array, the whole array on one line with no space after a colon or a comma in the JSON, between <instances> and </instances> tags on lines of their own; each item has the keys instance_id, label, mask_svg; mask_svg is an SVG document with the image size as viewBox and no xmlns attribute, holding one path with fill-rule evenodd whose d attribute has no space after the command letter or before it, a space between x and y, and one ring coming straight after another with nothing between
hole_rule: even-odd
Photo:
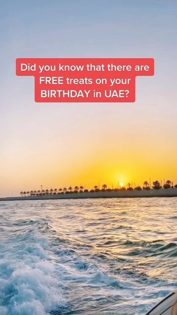
<instances>
[{"instance_id":1,"label":"low dark strip of shore beneath the row of palm trees","mask_svg":"<svg viewBox=\"0 0 177 315\"><path fill-rule=\"evenodd\" d=\"M150 190L125 190L125 191L99 191L78 192L54 195L38 195L26 197L5 197L0 201L23 201L23 200L52 200L52 199L89 199L89 198L146 198L146 197L177 197L177 189L150 189Z\"/></svg>"}]
</instances>

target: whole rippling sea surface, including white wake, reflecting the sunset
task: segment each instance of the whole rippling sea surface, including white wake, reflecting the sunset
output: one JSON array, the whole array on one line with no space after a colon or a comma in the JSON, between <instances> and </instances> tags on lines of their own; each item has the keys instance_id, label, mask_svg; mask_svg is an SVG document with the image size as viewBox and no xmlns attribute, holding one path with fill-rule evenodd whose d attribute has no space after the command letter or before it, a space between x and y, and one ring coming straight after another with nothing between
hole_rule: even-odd
<instances>
[{"instance_id":1,"label":"whole rippling sea surface, including white wake, reflecting the sunset","mask_svg":"<svg viewBox=\"0 0 177 315\"><path fill-rule=\"evenodd\" d=\"M144 315L177 288L177 198L0 202L0 315Z\"/></svg>"}]
</instances>

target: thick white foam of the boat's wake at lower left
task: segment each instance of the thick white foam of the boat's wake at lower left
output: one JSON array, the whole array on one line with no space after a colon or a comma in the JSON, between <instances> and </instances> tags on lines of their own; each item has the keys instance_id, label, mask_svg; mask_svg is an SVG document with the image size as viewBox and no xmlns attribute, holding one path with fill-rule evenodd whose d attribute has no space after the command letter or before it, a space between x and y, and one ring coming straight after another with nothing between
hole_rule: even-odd
<instances>
[{"instance_id":1,"label":"thick white foam of the boat's wake at lower left","mask_svg":"<svg viewBox=\"0 0 177 315\"><path fill-rule=\"evenodd\" d=\"M30 231L13 241L0 254L0 315L48 315L63 307L62 282L47 239Z\"/></svg>"}]
</instances>

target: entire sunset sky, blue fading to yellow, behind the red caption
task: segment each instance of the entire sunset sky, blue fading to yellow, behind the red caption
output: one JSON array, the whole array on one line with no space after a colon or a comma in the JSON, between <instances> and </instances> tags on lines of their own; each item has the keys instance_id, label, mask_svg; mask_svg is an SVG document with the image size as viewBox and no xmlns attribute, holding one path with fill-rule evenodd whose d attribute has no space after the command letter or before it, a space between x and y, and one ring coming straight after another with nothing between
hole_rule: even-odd
<instances>
[{"instance_id":1,"label":"entire sunset sky, blue fading to yellow, behind the red caption","mask_svg":"<svg viewBox=\"0 0 177 315\"><path fill-rule=\"evenodd\" d=\"M0 9L0 197L177 183L177 1L9 0ZM135 103L35 103L16 58L154 58Z\"/></svg>"}]
</instances>

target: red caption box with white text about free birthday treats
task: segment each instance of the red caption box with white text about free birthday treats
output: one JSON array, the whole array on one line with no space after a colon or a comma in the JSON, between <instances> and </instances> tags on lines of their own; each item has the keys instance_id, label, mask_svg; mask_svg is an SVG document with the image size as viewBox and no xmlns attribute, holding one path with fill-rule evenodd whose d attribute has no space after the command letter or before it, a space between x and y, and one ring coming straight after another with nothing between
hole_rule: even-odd
<instances>
[{"instance_id":1,"label":"red caption box with white text about free birthday treats","mask_svg":"<svg viewBox=\"0 0 177 315\"><path fill-rule=\"evenodd\" d=\"M136 77L153 76L152 58L18 58L34 76L36 102L135 102Z\"/></svg>"}]
</instances>

